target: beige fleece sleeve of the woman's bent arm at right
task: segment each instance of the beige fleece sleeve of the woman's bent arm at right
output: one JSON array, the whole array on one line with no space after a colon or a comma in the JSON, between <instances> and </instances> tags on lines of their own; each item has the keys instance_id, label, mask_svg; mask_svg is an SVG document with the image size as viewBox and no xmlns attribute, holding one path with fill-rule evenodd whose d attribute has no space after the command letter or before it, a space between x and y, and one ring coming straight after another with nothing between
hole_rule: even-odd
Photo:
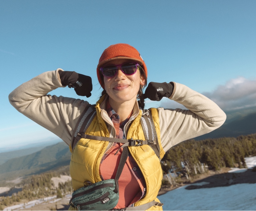
<instances>
[{"instance_id":1,"label":"beige fleece sleeve of the woman's bent arm at right","mask_svg":"<svg viewBox=\"0 0 256 211\"><path fill-rule=\"evenodd\" d=\"M161 144L165 152L184 140L217 129L226 120L226 114L216 103L183 84L174 83L169 99L188 110L158 108Z\"/></svg>"}]
</instances>

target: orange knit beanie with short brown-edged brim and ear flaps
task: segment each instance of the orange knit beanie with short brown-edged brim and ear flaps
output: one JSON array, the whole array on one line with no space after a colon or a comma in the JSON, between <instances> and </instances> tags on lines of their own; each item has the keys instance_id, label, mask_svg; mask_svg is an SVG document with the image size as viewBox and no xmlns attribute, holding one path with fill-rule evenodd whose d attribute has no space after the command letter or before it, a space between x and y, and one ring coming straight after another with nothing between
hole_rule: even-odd
<instances>
[{"instance_id":1,"label":"orange knit beanie with short brown-edged brim and ear flaps","mask_svg":"<svg viewBox=\"0 0 256 211\"><path fill-rule=\"evenodd\" d=\"M128 44L115 44L106 48L101 57L99 58L99 64L97 66L97 77L99 84L104 89L102 80L100 78L100 68L108 61L114 59L131 59L132 61L138 62L143 70L145 71L146 77L148 77L148 71L145 62L143 61L140 53L132 46Z\"/></svg>"}]
</instances>

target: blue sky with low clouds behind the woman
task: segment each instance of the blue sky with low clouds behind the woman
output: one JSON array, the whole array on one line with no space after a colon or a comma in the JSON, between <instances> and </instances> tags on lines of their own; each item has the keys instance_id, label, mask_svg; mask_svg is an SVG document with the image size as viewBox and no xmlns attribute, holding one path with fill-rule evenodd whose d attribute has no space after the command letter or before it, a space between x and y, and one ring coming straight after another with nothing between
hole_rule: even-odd
<instances>
[{"instance_id":1,"label":"blue sky with low clouds behind the woman","mask_svg":"<svg viewBox=\"0 0 256 211\"><path fill-rule=\"evenodd\" d=\"M224 110L256 105L256 1L0 1L0 143L21 146L56 136L16 111L9 93L45 71L92 78L103 50L128 43L148 82L178 82ZM51 94L78 98L68 88ZM80 97L79 97L80 98ZM182 107L163 99L146 107Z\"/></svg>"}]
</instances>

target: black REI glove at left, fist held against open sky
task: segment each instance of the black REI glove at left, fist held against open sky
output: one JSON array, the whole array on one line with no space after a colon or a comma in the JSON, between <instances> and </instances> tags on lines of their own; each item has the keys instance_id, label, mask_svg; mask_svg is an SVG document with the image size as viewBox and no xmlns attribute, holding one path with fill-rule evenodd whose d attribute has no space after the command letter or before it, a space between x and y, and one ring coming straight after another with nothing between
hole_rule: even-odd
<instances>
[{"instance_id":1,"label":"black REI glove at left, fist held against open sky","mask_svg":"<svg viewBox=\"0 0 256 211\"><path fill-rule=\"evenodd\" d=\"M73 87L76 94L89 98L92 91L91 77L72 71L59 70L59 77L63 86Z\"/></svg>"}]
</instances>

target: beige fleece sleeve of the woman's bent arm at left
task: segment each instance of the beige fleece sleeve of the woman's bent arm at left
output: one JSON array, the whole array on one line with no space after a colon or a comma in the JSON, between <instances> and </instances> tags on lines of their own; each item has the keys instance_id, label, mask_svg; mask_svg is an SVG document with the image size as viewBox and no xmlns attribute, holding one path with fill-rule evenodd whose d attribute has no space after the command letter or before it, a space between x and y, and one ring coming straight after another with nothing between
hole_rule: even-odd
<instances>
[{"instance_id":1,"label":"beige fleece sleeve of the woman's bent arm at left","mask_svg":"<svg viewBox=\"0 0 256 211\"><path fill-rule=\"evenodd\" d=\"M47 95L62 86L58 71L40 74L20 85L9 95L9 101L19 112L59 136L68 145L79 115L87 101Z\"/></svg>"}]
</instances>

